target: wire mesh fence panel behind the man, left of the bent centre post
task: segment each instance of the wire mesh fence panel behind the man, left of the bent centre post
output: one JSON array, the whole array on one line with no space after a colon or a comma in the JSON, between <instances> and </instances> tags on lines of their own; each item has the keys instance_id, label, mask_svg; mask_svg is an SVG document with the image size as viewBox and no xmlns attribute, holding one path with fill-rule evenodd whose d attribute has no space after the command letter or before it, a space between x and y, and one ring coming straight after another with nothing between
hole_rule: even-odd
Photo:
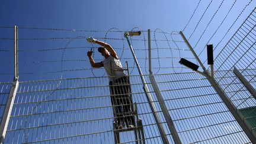
<instances>
[{"instance_id":1,"label":"wire mesh fence panel behind the man, left of the bent centre post","mask_svg":"<svg viewBox=\"0 0 256 144\"><path fill-rule=\"evenodd\" d=\"M146 143L162 143L139 79L130 77ZM114 143L108 78L64 79L46 100L58 84L59 80L20 83L5 142ZM133 132L120 137L123 143L135 142Z\"/></svg>"}]
</instances>

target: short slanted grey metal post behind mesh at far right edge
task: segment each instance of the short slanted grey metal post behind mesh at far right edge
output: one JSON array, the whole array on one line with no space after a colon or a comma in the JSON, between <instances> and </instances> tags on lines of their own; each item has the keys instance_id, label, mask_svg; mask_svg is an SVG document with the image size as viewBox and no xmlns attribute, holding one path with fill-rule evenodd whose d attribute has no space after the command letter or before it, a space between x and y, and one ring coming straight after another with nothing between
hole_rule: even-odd
<instances>
[{"instance_id":1,"label":"short slanted grey metal post behind mesh at far right edge","mask_svg":"<svg viewBox=\"0 0 256 144\"><path fill-rule=\"evenodd\" d=\"M242 73L240 73L238 69L236 69L235 67L234 67L233 73L235 73L236 77L238 77L238 79L242 82L242 84L244 84L245 88L247 88L248 91L251 93L252 97L254 97L256 100L256 91L254 87L252 87L252 85L247 81L247 79L245 79Z\"/></svg>"}]
</instances>

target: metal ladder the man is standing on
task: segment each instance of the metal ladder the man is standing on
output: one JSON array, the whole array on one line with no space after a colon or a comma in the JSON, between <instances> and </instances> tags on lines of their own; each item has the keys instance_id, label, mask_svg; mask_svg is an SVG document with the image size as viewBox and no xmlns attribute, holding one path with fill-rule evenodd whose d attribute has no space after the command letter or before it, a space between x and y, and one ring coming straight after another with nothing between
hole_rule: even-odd
<instances>
[{"instance_id":1,"label":"metal ladder the man is standing on","mask_svg":"<svg viewBox=\"0 0 256 144\"><path fill-rule=\"evenodd\" d=\"M111 64L112 65L112 64ZM118 71L118 70L114 70L113 71ZM130 79L129 77L129 67L128 67L128 63L126 62L126 69L122 69L122 71L127 71L127 77L128 79ZM129 80L130 81L130 80ZM131 101L131 111L126 112L126 113L116 113L116 111L114 110L113 107L113 114L114 114L114 121L113 121L113 131L114 131L114 143L120 143L120 133L122 132L129 132L129 131L134 131L135 134L135 142L136 144L145 144L145 136L144 136L144 131L143 131L143 124L142 124L142 119L139 118L138 113L137 113L137 104L134 103L133 104L133 98L132 98L132 94L130 95L130 101ZM124 117L124 119L126 119L125 117L127 116L132 116L133 119L135 120L135 127L129 127L129 128L124 128L124 129L119 129L119 124L117 122L117 117Z\"/></svg>"}]
</instances>

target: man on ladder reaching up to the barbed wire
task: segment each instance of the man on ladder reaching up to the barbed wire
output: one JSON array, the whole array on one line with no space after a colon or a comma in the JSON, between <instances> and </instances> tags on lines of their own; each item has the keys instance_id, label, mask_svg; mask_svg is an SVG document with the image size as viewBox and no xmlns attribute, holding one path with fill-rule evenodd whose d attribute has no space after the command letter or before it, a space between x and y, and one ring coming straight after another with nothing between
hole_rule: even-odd
<instances>
[{"instance_id":1,"label":"man on ladder reaching up to the barbed wire","mask_svg":"<svg viewBox=\"0 0 256 144\"><path fill-rule=\"evenodd\" d=\"M104 56L105 59L103 61L95 63L92 58L92 51L87 52L87 56L89 57L89 62L93 68L101 68L104 66L105 71L107 72L110 80L111 104L114 107L114 113L117 117L118 129L123 129L124 122L127 127L134 127L134 116L129 114L132 107L130 81L123 71L123 66L121 65L116 51L110 46L110 44L96 40L93 37L89 37L87 41L89 43L97 43L102 46L98 47L98 52Z\"/></svg>"}]
</instances>

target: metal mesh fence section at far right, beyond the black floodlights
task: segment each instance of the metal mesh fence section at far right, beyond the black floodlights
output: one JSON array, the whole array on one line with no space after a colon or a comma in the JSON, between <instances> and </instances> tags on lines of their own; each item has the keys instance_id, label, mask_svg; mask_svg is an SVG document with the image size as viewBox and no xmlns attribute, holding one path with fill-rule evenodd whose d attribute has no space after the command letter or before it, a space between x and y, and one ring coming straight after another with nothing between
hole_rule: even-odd
<instances>
[{"instance_id":1,"label":"metal mesh fence section at far right, beyond the black floodlights","mask_svg":"<svg viewBox=\"0 0 256 144\"><path fill-rule=\"evenodd\" d=\"M234 67L240 69L242 75L247 75L245 76L247 81L255 86L255 15L254 9L215 59L215 69L228 70L216 72L216 76L219 77L217 81L220 84L226 84L223 89L229 94L238 109L252 107L256 104L252 95L232 72ZM233 89L247 92L230 93L229 91L233 91Z\"/></svg>"}]
</instances>

